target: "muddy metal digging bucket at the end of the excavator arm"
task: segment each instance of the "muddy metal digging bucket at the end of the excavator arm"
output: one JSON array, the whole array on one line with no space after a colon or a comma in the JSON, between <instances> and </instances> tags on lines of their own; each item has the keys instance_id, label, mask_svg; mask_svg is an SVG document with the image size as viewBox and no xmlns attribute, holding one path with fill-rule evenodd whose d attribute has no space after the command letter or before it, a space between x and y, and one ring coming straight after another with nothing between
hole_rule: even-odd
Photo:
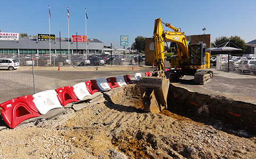
<instances>
[{"instance_id":1,"label":"muddy metal digging bucket at the end of the excavator arm","mask_svg":"<svg viewBox=\"0 0 256 159\"><path fill-rule=\"evenodd\" d=\"M165 77L141 77L140 93L145 112L159 113L167 109L169 79Z\"/></svg>"}]
</instances>

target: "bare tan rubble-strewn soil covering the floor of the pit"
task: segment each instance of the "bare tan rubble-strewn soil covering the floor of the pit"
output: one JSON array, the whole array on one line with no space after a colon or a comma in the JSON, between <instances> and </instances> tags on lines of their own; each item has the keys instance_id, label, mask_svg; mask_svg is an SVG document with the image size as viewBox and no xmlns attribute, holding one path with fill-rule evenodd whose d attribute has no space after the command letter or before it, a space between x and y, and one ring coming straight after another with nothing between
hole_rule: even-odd
<instances>
[{"instance_id":1,"label":"bare tan rubble-strewn soil covering the floor of the pit","mask_svg":"<svg viewBox=\"0 0 256 159\"><path fill-rule=\"evenodd\" d=\"M80 111L66 108L63 117L0 131L0 158L256 158L255 136L168 110L144 113L135 84L104 97Z\"/></svg>"}]
</instances>

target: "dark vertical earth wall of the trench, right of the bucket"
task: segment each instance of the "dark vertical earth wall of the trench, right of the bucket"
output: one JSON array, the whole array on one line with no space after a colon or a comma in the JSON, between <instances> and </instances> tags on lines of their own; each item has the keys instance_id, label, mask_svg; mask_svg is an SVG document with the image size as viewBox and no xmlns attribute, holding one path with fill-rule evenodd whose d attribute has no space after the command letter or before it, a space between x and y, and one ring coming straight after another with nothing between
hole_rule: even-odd
<instances>
[{"instance_id":1,"label":"dark vertical earth wall of the trench, right of the bucket","mask_svg":"<svg viewBox=\"0 0 256 159\"><path fill-rule=\"evenodd\" d=\"M170 84L168 110L192 120L215 125L222 121L233 129L256 130L256 105L219 95L190 92ZM222 126L221 126L222 127Z\"/></svg>"}]
</instances>

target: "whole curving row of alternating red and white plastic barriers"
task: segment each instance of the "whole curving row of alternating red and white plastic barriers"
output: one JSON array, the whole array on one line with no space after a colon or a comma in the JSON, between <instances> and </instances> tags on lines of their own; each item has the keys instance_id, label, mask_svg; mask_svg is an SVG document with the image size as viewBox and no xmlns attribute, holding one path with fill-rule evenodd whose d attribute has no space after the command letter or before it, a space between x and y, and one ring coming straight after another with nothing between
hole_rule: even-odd
<instances>
[{"instance_id":1,"label":"whole curving row of alternating red and white plastic barriers","mask_svg":"<svg viewBox=\"0 0 256 159\"><path fill-rule=\"evenodd\" d=\"M81 82L74 86L64 86L56 90L42 91L33 95L20 96L0 104L1 115L6 125L15 128L22 121L33 117L39 117L40 114L46 114L54 108L64 107L71 102L83 100L85 96L92 95L95 92L102 92L131 84L130 75L99 78Z\"/></svg>"}]
</instances>

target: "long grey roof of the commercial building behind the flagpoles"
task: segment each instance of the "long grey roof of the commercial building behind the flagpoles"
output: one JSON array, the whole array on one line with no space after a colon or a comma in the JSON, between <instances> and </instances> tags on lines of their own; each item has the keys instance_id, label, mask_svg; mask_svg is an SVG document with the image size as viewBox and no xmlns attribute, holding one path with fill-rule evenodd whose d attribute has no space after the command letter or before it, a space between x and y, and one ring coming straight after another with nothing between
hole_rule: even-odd
<instances>
[{"instance_id":1,"label":"long grey roof of the commercial building behind the flagpoles","mask_svg":"<svg viewBox=\"0 0 256 159\"><path fill-rule=\"evenodd\" d=\"M61 40L61 41L60 41ZM68 49L68 38L56 38L50 42L50 49ZM77 42L78 49L86 49L86 42ZM104 43L98 39L88 39L88 50L100 50ZM23 37L20 40L0 40L0 49L49 49L49 41L37 41L37 37ZM70 49L76 49L76 42L71 42Z\"/></svg>"}]
</instances>

